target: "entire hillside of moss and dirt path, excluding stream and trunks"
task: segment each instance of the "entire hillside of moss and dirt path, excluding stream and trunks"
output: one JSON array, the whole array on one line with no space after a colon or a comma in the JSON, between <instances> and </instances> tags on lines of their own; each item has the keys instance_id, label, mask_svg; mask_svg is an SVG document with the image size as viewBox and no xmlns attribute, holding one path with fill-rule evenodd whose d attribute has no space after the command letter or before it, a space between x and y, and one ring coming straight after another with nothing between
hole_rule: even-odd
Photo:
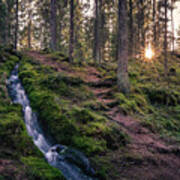
<instances>
[{"instance_id":1,"label":"entire hillside of moss and dirt path, excluding stream and trunks","mask_svg":"<svg viewBox=\"0 0 180 180\"><path fill-rule=\"evenodd\" d=\"M44 132L84 152L98 179L179 179L179 59L170 56L169 83L161 58L130 61L129 96L117 91L115 63L96 68L69 64L60 52L9 50L0 59L0 179L64 179L33 145L21 107L8 96L6 80L18 62Z\"/></svg>"}]
</instances>

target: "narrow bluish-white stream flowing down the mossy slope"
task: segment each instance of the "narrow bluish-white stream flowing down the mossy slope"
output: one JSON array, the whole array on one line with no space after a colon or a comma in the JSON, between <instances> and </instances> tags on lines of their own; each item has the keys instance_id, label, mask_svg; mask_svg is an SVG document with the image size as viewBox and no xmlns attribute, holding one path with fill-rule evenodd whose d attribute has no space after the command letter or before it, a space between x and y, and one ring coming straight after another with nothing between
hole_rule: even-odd
<instances>
[{"instance_id":1,"label":"narrow bluish-white stream flowing down the mossy slope","mask_svg":"<svg viewBox=\"0 0 180 180\"><path fill-rule=\"evenodd\" d=\"M53 145L46 139L38 124L37 115L32 111L29 99L19 80L18 68L19 65L16 65L8 80L9 94L14 103L22 105L26 128L34 144L44 154L47 162L60 169L66 179L93 180L94 178L90 175L94 174L94 170L81 152L59 144Z\"/></svg>"}]
</instances>

